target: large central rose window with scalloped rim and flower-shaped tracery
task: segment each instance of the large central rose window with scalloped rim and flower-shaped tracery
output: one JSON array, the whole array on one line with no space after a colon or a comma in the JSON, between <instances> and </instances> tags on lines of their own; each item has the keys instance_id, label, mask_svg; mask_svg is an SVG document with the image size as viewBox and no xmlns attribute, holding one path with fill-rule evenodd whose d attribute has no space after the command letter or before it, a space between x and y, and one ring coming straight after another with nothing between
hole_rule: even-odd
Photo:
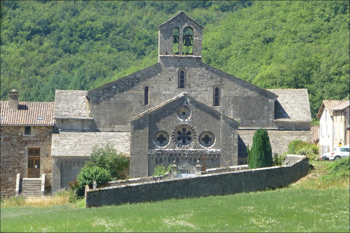
<instances>
[{"instance_id":1,"label":"large central rose window with scalloped rim and flower-shaped tracery","mask_svg":"<svg viewBox=\"0 0 350 233\"><path fill-rule=\"evenodd\" d=\"M196 139L196 131L189 124L181 124L173 130L172 138L179 147L188 147Z\"/></svg>"}]
</instances>

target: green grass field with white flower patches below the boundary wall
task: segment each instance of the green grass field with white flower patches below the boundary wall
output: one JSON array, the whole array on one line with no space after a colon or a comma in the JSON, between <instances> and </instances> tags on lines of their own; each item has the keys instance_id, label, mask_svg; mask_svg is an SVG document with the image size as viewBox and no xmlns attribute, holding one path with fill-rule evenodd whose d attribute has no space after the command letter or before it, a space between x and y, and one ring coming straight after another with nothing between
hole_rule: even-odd
<instances>
[{"instance_id":1,"label":"green grass field with white flower patches below the boundary wall","mask_svg":"<svg viewBox=\"0 0 350 233\"><path fill-rule=\"evenodd\" d=\"M331 162L288 188L85 209L1 205L1 232L349 232L349 172L323 182Z\"/></svg>"}]
</instances>

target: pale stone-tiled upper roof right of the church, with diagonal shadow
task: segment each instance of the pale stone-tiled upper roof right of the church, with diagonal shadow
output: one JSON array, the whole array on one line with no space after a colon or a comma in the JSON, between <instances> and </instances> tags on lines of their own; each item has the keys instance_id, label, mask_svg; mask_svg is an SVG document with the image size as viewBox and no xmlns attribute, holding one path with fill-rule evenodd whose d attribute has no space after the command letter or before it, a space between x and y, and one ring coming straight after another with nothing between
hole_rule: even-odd
<instances>
[{"instance_id":1,"label":"pale stone-tiled upper roof right of the church, with diagonal shadow","mask_svg":"<svg viewBox=\"0 0 350 233\"><path fill-rule=\"evenodd\" d=\"M270 89L278 95L275 106L275 120L311 121L307 89Z\"/></svg>"}]
</instances>

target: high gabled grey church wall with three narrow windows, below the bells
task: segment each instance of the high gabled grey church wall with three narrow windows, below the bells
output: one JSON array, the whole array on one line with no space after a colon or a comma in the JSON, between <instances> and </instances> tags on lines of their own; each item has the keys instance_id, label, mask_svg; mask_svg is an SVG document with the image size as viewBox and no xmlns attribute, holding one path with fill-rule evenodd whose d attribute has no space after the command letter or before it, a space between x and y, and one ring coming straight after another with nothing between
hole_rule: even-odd
<instances>
[{"instance_id":1,"label":"high gabled grey church wall with three narrow windows, below the bells","mask_svg":"<svg viewBox=\"0 0 350 233\"><path fill-rule=\"evenodd\" d=\"M186 70L186 88L178 88L180 69ZM215 85L221 86L221 106L213 106ZM145 86L149 87L146 106ZM199 57L160 57L159 63L93 89L87 96L100 130L129 130L134 116L182 92L240 121L241 127L276 127L275 94L202 63Z\"/></svg>"}]
</instances>

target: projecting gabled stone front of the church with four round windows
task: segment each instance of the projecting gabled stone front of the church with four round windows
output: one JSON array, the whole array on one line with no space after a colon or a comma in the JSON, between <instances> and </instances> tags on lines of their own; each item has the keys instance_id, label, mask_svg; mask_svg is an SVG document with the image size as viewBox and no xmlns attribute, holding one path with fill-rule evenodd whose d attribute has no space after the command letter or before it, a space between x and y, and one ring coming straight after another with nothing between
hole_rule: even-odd
<instances>
[{"instance_id":1,"label":"projecting gabled stone front of the church with four round windows","mask_svg":"<svg viewBox=\"0 0 350 233\"><path fill-rule=\"evenodd\" d=\"M237 121L182 93L131 121L130 176L173 161L203 165L203 157L207 168L237 165L237 129Z\"/></svg>"}]
</instances>

